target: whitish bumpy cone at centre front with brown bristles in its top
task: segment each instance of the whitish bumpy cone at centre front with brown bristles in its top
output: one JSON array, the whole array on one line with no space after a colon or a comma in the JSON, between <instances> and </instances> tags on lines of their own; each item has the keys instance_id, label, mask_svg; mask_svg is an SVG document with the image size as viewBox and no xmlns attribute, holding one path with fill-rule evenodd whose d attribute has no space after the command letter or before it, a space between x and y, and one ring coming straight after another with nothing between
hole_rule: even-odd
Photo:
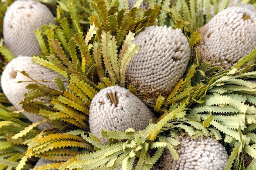
<instances>
[{"instance_id":1,"label":"whitish bumpy cone at centre front with brown bristles in its top","mask_svg":"<svg viewBox=\"0 0 256 170\"><path fill-rule=\"evenodd\" d=\"M103 88L94 96L90 106L90 132L105 144L108 140L101 137L101 129L142 130L148 126L150 119L153 119L153 113L147 106L120 86Z\"/></svg>"}]
</instances>

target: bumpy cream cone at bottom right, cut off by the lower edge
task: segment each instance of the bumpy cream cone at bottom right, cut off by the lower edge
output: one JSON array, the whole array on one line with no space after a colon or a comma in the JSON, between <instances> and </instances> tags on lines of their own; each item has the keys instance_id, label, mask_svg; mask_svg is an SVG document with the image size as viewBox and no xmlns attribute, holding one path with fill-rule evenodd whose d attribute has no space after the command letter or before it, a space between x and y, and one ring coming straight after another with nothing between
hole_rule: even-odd
<instances>
[{"instance_id":1,"label":"bumpy cream cone at bottom right, cut off by the lower edge","mask_svg":"<svg viewBox=\"0 0 256 170\"><path fill-rule=\"evenodd\" d=\"M158 167L161 170L224 170L229 158L225 147L211 137L182 137L177 152L179 159L175 160L169 150L165 150Z\"/></svg>"}]
</instances>

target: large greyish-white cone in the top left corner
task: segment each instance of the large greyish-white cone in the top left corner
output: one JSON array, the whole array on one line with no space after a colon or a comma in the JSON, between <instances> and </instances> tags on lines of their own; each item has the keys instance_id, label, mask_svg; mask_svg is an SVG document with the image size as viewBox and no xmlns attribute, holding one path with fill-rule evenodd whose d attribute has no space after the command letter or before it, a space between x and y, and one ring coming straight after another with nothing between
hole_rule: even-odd
<instances>
[{"instance_id":1,"label":"large greyish-white cone in the top left corner","mask_svg":"<svg viewBox=\"0 0 256 170\"><path fill-rule=\"evenodd\" d=\"M17 0L7 8L3 22L4 46L17 57L39 55L41 49L34 30L55 21L51 11L40 2Z\"/></svg>"}]
</instances>

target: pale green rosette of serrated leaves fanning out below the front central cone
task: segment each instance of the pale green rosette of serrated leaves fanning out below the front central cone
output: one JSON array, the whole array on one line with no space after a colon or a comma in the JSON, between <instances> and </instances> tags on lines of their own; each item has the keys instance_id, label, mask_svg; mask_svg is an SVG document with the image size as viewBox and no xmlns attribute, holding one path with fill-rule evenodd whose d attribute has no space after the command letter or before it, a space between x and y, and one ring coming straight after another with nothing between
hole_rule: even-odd
<instances>
[{"instance_id":1,"label":"pale green rosette of serrated leaves fanning out below the front central cone","mask_svg":"<svg viewBox=\"0 0 256 170\"><path fill-rule=\"evenodd\" d=\"M92 136L88 137L83 134L83 139L90 141L99 149L92 153L77 156L77 160L67 168L72 170L87 167L88 170L97 170L105 169L100 167L106 165L106 169L115 169L121 164L122 169L129 170L134 167L133 163L137 157L136 169L143 167L145 170L149 170L162 155L164 147L173 148L179 144L177 140L172 138L163 138L156 142L148 140L148 132L153 126L154 124L150 123L145 130L138 132L132 128L126 132L103 130L102 136L109 138L110 145L108 146L100 144L99 140L93 139ZM155 151L151 152L152 149ZM175 150L172 151L176 153Z\"/></svg>"}]
</instances>

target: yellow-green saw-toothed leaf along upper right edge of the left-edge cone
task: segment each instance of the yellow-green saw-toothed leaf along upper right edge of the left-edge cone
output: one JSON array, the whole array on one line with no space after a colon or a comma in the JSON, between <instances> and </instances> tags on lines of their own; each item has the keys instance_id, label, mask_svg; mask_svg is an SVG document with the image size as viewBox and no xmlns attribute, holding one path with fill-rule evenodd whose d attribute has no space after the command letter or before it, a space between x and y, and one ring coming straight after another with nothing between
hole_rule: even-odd
<instances>
[{"instance_id":1,"label":"yellow-green saw-toothed leaf along upper right edge of the left-edge cone","mask_svg":"<svg viewBox=\"0 0 256 170\"><path fill-rule=\"evenodd\" d=\"M37 57L37 56L31 57L31 60L32 60L32 62L34 62L36 64L50 68L51 70L56 71L57 73L63 75L64 77L67 77L67 72L63 71L63 69L59 68L54 63L49 62L48 60L45 60L45 59Z\"/></svg>"}]
</instances>

